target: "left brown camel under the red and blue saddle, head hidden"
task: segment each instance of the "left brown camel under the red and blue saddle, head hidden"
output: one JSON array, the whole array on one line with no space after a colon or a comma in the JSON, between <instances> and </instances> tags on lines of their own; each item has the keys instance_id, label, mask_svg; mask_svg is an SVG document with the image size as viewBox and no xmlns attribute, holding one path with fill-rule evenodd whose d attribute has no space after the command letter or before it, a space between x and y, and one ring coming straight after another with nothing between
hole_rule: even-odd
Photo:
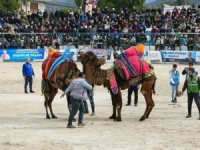
<instances>
[{"instance_id":1,"label":"left brown camel under the red and blue saddle, head hidden","mask_svg":"<svg viewBox=\"0 0 200 150\"><path fill-rule=\"evenodd\" d=\"M45 63L45 61L43 63ZM46 119L50 119L48 108L50 110L51 117L54 119L57 118L52 110L54 97L56 96L58 89L64 91L71 80L77 77L79 72L80 71L74 62L66 61L56 68L50 80L42 80L41 90L45 98L44 106L46 109Z\"/></svg>"}]
</instances>

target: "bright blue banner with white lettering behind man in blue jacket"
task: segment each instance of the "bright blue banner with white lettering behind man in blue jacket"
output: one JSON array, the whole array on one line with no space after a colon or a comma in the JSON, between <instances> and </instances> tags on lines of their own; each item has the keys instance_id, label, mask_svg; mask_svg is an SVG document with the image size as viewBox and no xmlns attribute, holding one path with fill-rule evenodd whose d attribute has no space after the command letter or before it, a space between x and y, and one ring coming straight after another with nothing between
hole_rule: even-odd
<instances>
[{"instance_id":1,"label":"bright blue banner with white lettering behind man in blue jacket","mask_svg":"<svg viewBox=\"0 0 200 150\"><path fill-rule=\"evenodd\" d=\"M44 60L44 49L0 49L0 56L3 61L25 61L30 58L31 61Z\"/></svg>"}]
</instances>

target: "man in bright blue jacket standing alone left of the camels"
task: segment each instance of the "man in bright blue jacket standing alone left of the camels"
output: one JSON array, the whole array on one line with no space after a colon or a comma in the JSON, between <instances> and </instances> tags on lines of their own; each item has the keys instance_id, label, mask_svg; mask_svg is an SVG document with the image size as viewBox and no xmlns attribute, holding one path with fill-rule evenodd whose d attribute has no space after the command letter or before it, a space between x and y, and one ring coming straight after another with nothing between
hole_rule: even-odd
<instances>
[{"instance_id":1,"label":"man in bright blue jacket standing alone left of the camels","mask_svg":"<svg viewBox=\"0 0 200 150\"><path fill-rule=\"evenodd\" d=\"M29 84L30 93L35 93L32 89L33 76L35 77L35 73L34 73L34 70L33 70L33 66L30 63L29 58L27 58L26 63L23 64L22 74L23 74L23 77L24 77L24 80L25 80L24 93L28 93L28 91L27 91L28 84Z\"/></svg>"}]
</instances>

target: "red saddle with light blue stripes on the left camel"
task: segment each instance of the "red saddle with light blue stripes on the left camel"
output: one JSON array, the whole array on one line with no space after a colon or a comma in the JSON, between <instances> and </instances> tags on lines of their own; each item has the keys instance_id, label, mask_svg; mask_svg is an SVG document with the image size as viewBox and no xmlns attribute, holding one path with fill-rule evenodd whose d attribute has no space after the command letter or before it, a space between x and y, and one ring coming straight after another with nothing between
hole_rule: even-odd
<instances>
[{"instance_id":1,"label":"red saddle with light blue stripes on the left camel","mask_svg":"<svg viewBox=\"0 0 200 150\"><path fill-rule=\"evenodd\" d=\"M64 63L65 65L62 65ZM63 84L64 89L64 85L69 84L70 79L73 76L73 71L75 72L77 69L76 67L74 68L75 70L69 69L73 68L72 66L76 66L76 64L72 60L72 53L69 49L66 49L63 54L51 49L48 57L42 64L42 86L48 81L56 88L61 86L60 84ZM63 83L64 79L67 81L64 81Z\"/></svg>"}]
</instances>

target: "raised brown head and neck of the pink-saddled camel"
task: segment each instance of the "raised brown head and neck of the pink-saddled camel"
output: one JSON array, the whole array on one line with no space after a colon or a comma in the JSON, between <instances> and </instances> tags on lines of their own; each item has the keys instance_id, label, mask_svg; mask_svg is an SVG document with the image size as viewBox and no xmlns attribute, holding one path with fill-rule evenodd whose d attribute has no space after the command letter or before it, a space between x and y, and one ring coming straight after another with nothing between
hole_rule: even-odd
<instances>
[{"instance_id":1,"label":"raised brown head and neck of the pink-saddled camel","mask_svg":"<svg viewBox=\"0 0 200 150\"><path fill-rule=\"evenodd\" d=\"M83 65L83 73L85 74L85 79L87 82L94 86L95 78L99 73L101 66L105 64L104 58L98 58L93 52L80 52L79 59ZM98 79L100 80L100 78ZM96 81L100 85L101 81Z\"/></svg>"}]
</instances>

